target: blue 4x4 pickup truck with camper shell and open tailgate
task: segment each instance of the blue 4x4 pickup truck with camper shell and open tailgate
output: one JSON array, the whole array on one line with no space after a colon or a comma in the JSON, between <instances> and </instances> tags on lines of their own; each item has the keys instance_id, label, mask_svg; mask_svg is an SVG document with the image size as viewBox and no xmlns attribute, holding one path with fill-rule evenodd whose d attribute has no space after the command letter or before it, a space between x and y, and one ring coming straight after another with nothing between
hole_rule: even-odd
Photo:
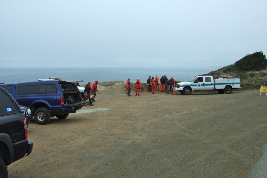
<instances>
[{"instance_id":1,"label":"blue 4x4 pickup truck with camper shell and open tailgate","mask_svg":"<svg viewBox=\"0 0 267 178\"><path fill-rule=\"evenodd\" d=\"M47 80L17 84L1 84L18 102L29 107L38 124L47 124L51 117L65 119L89 101L82 101L73 81Z\"/></svg>"}]
</instances>

